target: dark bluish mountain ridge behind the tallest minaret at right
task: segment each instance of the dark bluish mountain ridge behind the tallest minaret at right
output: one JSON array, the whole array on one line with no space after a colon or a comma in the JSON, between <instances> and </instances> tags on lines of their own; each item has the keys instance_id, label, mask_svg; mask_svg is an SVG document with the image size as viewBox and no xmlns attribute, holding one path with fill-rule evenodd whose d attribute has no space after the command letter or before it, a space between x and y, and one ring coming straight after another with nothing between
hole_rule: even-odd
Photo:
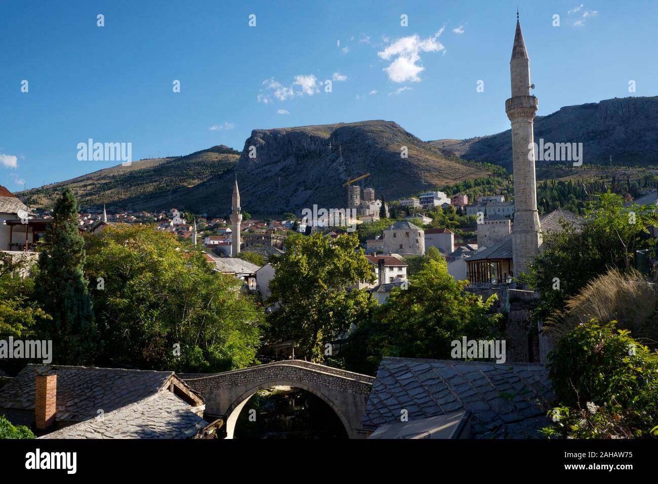
<instances>
[{"instance_id":1,"label":"dark bluish mountain ridge behind the tallest minaret at right","mask_svg":"<svg viewBox=\"0 0 658 484\"><path fill-rule=\"evenodd\" d=\"M541 103L541 99L540 99ZM534 122L539 143L582 143L583 163L617 165L658 163L658 97L624 97L563 107ZM436 140L433 146L463 159L487 161L507 169L512 165L511 132L469 140ZM547 166L550 161L538 161Z\"/></svg>"}]
</instances>

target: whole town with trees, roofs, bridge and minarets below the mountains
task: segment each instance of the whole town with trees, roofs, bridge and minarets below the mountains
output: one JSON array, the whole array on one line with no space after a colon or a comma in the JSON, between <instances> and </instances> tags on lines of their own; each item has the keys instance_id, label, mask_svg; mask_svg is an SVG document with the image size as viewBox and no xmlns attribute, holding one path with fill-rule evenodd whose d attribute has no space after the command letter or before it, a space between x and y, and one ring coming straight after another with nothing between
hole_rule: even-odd
<instances>
[{"instance_id":1,"label":"whole town with trees, roofs, bridge and minarets below the mountains","mask_svg":"<svg viewBox=\"0 0 658 484\"><path fill-rule=\"evenodd\" d=\"M538 180L518 13L510 66L499 184L345 171L285 213L241 161L227 213L0 186L0 436L657 438L658 191Z\"/></svg>"}]
</instances>

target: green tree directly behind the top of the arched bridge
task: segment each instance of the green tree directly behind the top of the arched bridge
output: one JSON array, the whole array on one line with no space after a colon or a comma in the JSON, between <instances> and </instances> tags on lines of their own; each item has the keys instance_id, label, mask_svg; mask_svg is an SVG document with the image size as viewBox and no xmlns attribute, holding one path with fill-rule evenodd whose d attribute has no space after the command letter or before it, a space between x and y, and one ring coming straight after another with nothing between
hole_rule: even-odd
<instances>
[{"instance_id":1,"label":"green tree directly behind the top of the arched bridge","mask_svg":"<svg viewBox=\"0 0 658 484\"><path fill-rule=\"evenodd\" d=\"M349 290L358 281L374 281L372 266L355 236L313 234L286 239L286 253L270 257L276 274L267 304L268 340L295 340L315 362L324 359L324 345L352 324L367 319L376 302L364 289Z\"/></svg>"}]
</instances>

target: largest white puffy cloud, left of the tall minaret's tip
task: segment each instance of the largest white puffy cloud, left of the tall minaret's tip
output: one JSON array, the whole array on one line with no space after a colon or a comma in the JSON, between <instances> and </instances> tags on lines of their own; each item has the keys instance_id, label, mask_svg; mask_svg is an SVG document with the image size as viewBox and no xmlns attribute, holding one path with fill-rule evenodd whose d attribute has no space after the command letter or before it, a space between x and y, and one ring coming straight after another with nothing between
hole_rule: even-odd
<instances>
[{"instance_id":1,"label":"largest white puffy cloud, left of the tall minaret's tip","mask_svg":"<svg viewBox=\"0 0 658 484\"><path fill-rule=\"evenodd\" d=\"M420 52L445 52L445 47L437 40L443 34L443 29L442 27L434 36L426 39L421 39L417 34L399 38L386 49L378 52L377 55L386 61L395 57L395 60L384 68L390 80L393 82L420 82L418 74L425 70L418 64Z\"/></svg>"}]
</instances>

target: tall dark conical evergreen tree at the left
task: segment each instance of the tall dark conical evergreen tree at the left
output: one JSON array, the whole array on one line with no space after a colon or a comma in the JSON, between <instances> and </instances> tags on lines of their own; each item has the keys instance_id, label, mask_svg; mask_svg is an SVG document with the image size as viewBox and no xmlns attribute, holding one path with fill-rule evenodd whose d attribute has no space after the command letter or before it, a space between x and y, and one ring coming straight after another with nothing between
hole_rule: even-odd
<instances>
[{"instance_id":1,"label":"tall dark conical evergreen tree at the left","mask_svg":"<svg viewBox=\"0 0 658 484\"><path fill-rule=\"evenodd\" d=\"M53 362L91 363L101 342L83 273L86 254L78 230L78 202L70 188L55 202L43 240L35 286L39 306L52 316L43 321L42 333L53 340Z\"/></svg>"}]
</instances>

